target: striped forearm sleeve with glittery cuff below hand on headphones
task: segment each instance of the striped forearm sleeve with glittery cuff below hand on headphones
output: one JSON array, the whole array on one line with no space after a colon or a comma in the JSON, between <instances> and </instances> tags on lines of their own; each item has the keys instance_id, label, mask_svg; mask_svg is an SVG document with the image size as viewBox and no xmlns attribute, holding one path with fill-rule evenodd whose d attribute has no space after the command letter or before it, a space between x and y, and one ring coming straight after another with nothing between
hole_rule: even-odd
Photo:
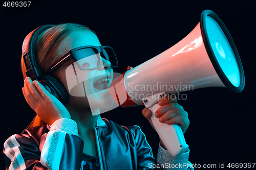
<instances>
[{"instance_id":1,"label":"striped forearm sleeve with glittery cuff below hand on headphones","mask_svg":"<svg viewBox=\"0 0 256 170\"><path fill-rule=\"evenodd\" d=\"M83 141L78 137L74 120L56 120L48 132L41 152L41 164L48 169L79 169Z\"/></svg>"}]
</instances>

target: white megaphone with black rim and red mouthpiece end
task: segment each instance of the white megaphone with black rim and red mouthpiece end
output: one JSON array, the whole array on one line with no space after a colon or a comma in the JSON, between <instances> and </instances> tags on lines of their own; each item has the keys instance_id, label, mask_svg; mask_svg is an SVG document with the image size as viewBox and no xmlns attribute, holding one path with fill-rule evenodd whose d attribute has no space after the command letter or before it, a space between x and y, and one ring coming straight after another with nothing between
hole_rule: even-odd
<instances>
[{"instance_id":1,"label":"white megaphone with black rim and red mouthpiece end","mask_svg":"<svg viewBox=\"0 0 256 170\"><path fill-rule=\"evenodd\" d=\"M110 93L121 107L144 103L155 113L165 93L187 91L188 87L226 87L240 93L244 84L243 66L228 30L214 12L205 10L198 25L185 38L124 72L111 83ZM160 123L154 114L151 118L170 154L176 157L187 150L178 125Z\"/></svg>"}]
</instances>

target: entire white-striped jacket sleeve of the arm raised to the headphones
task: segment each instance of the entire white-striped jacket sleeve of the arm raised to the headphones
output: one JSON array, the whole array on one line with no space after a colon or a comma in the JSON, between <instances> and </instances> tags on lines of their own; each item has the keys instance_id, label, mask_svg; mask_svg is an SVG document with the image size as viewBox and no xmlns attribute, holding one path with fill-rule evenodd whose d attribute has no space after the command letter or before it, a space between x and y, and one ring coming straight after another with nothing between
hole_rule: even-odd
<instances>
[{"instance_id":1,"label":"entire white-striped jacket sleeve of the arm raised to the headphones","mask_svg":"<svg viewBox=\"0 0 256 170\"><path fill-rule=\"evenodd\" d=\"M56 120L39 140L27 134L9 137L4 143L6 169L80 169L83 141L74 120Z\"/></svg>"}]
</instances>

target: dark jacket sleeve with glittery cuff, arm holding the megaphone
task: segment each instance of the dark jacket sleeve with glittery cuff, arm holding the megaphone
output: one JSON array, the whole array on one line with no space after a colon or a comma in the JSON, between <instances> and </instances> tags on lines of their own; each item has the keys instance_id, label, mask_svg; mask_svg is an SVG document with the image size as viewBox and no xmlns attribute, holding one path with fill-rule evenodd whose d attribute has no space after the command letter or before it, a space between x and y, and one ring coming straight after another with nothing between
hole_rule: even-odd
<instances>
[{"instance_id":1,"label":"dark jacket sleeve with glittery cuff, arm holding the megaphone","mask_svg":"<svg viewBox=\"0 0 256 170\"><path fill-rule=\"evenodd\" d=\"M173 157L159 144L157 158L155 159L144 133L141 131L140 127L134 127L136 129L135 139L137 141L138 169L193 169L191 163L188 161L189 150L177 157Z\"/></svg>"}]
</instances>

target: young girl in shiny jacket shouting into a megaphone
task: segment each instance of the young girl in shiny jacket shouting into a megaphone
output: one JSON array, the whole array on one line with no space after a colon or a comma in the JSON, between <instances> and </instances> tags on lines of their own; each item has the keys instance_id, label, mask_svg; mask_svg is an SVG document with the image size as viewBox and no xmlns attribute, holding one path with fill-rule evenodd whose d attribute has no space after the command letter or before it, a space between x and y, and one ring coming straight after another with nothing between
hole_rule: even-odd
<instances>
[{"instance_id":1,"label":"young girl in shiny jacket shouting into a megaphone","mask_svg":"<svg viewBox=\"0 0 256 170\"><path fill-rule=\"evenodd\" d=\"M22 58L25 79L23 94L37 115L21 134L12 135L6 140L6 169L190 169L187 166L190 163L189 150L174 158L160 140L155 159L138 126L119 126L100 117L100 107L97 106L111 107L113 100L110 100L107 90L103 89L103 83L97 84L100 82L98 77L110 84L113 68L109 58L102 55L104 47L92 30L75 23L57 25L41 32L35 45L37 61L43 74L74 48L94 46L94 51L98 51L100 57L95 66L86 62L78 63L75 57L54 65L57 69L51 75L68 91L65 105L38 81L32 81L26 76ZM90 93L90 99L98 105L89 104L87 96L70 93L66 70L77 63L87 81L78 84L76 88L79 91L86 86L86 93ZM161 107L156 112L159 121L169 125L179 124L184 133L189 120L187 112L177 104L177 98L173 100L165 97L159 105ZM151 111L144 108L142 114L153 126ZM184 163L186 165L181 166Z\"/></svg>"}]
</instances>

